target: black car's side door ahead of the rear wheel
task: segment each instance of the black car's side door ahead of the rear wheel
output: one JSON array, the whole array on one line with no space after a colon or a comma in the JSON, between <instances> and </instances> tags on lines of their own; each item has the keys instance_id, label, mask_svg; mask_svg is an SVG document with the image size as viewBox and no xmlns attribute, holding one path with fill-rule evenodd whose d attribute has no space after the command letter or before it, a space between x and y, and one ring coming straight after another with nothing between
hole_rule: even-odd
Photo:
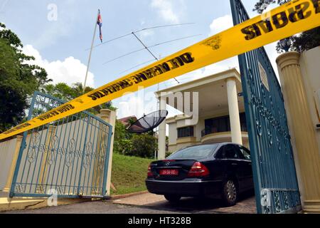
<instances>
[{"instance_id":1,"label":"black car's side door ahead of the rear wheel","mask_svg":"<svg viewBox=\"0 0 320 228\"><path fill-rule=\"evenodd\" d=\"M250 190L253 188L252 162L250 151L240 145L235 145L235 147L240 157L240 163L243 172L243 190Z\"/></svg>"}]
</instances>

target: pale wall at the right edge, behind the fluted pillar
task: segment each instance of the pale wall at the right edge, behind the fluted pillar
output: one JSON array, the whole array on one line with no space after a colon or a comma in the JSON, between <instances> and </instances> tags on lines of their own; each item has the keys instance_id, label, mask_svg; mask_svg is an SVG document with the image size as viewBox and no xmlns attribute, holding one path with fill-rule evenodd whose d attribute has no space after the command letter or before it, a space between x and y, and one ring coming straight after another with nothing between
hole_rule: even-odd
<instances>
[{"instance_id":1,"label":"pale wall at the right edge, behind the fluted pillar","mask_svg":"<svg viewBox=\"0 0 320 228\"><path fill-rule=\"evenodd\" d=\"M316 125L320 123L320 46L302 53L299 63L312 122L314 123L314 128L316 128ZM316 130L316 136L320 150L320 129Z\"/></svg>"}]
</instances>

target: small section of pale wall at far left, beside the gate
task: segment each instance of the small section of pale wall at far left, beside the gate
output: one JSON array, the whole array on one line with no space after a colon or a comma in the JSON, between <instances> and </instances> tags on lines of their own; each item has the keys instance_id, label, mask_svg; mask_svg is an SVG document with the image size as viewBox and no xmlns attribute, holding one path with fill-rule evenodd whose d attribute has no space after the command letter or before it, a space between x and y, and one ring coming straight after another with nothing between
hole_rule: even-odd
<instances>
[{"instance_id":1,"label":"small section of pale wall at far left, beside the gate","mask_svg":"<svg viewBox=\"0 0 320 228\"><path fill-rule=\"evenodd\" d=\"M16 149L16 138L0 143L0 191L4 190L6 180Z\"/></svg>"}]
</instances>

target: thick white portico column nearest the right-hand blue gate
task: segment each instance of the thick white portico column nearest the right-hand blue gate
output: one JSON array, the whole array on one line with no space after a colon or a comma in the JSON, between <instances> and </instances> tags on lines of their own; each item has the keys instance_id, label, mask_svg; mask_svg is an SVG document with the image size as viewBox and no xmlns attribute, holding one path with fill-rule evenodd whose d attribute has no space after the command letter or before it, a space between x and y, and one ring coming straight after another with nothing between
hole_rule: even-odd
<instances>
[{"instance_id":1,"label":"thick white portico column nearest the right-hand blue gate","mask_svg":"<svg viewBox=\"0 0 320 228\"><path fill-rule=\"evenodd\" d=\"M242 145L237 86L235 78L227 79L228 105L230 115L231 138L233 143Z\"/></svg>"}]
</instances>

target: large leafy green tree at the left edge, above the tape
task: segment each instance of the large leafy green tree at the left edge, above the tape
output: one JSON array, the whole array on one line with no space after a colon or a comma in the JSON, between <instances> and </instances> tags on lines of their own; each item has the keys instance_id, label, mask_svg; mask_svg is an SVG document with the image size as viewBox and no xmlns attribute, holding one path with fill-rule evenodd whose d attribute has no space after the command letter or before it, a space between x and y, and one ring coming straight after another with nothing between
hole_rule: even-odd
<instances>
[{"instance_id":1,"label":"large leafy green tree at the left edge, above the tape","mask_svg":"<svg viewBox=\"0 0 320 228\"><path fill-rule=\"evenodd\" d=\"M43 68L28 64L34 57L21 48L16 33L0 23L0 133L23 120L33 92L51 81Z\"/></svg>"}]
</instances>

